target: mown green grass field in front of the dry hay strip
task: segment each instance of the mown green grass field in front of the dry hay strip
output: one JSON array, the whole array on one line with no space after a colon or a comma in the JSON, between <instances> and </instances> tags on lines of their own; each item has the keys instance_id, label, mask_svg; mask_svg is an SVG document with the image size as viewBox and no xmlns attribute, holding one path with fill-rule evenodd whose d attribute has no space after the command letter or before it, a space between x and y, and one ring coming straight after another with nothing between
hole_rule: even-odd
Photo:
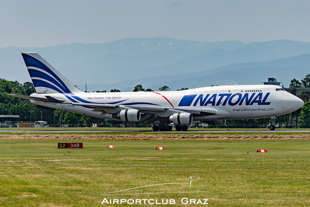
<instances>
[{"instance_id":1,"label":"mown green grass field in front of the dry hay strip","mask_svg":"<svg viewBox=\"0 0 310 207\"><path fill-rule=\"evenodd\" d=\"M173 206L184 206L183 197L209 199L209 206L310 205L309 139L69 142L75 141L83 142L84 149L70 149L68 155L68 150L56 149L64 140L0 139L0 206L102 206L104 198L175 199ZM156 146L166 150L156 151ZM189 182L194 175L200 179L182 191L209 192L101 196ZM129 193L175 192L181 186Z\"/></svg>"}]
</instances>

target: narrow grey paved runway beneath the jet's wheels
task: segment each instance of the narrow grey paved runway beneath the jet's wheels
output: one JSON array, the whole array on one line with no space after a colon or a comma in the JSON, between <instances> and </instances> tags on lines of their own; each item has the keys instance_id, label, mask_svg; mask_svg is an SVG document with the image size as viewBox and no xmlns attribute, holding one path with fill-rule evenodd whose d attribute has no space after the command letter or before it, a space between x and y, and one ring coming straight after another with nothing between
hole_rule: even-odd
<instances>
[{"instance_id":1,"label":"narrow grey paved runway beneath the jet's wheels","mask_svg":"<svg viewBox=\"0 0 310 207\"><path fill-rule=\"evenodd\" d=\"M124 131L120 131L120 130L68 130L68 131L63 131L63 130L55 130L55 131L40 131L40 130L0 130L1 132L12 132L12 133L18 133L18 132L27 132L27 133L277 133L277 132L303 132L303 133L310 133L310 130L201 130L201 131L170 131L170 132L162 132L162 131L157 131L154 132L153 130L149 130L149 131L134 131L134 130L124 130Z\"/></svg>"}]
</instances>

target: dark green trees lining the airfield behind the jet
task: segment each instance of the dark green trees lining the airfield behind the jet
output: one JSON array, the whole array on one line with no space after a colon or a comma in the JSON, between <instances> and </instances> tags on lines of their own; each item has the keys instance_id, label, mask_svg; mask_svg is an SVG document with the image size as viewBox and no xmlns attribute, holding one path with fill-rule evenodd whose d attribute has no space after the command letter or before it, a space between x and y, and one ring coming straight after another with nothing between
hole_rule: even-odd
<instances>
[{"instance_id":1,"label":"dark green trees lining the airfield behind the jet","mask_svg":"<svg viewBox=\"0 0 310 207\"><path fill-rule=\"evenodd\" d=\"M292 79L290 82L290 93L297 95L301 99L310 99L310 91L302 91L296 94L297 88L310 88L310 74L306 75L300 81ZM177 91L187 90L188 88L180 88ZM169 91L170 88L166 85L159 87L159 91ZM141 84L134 87L133 92L136 91L153 91L151 88L144 89ZM106 92L96 91L96 92ZM121 92L118 89L111 89L110 92ZM17 81L8 81L6 79L0 79L0 114L1 115L20 115L20 118L12 118L13 121L30 121L30 114L32 121L42 120L47 121L50 126L60 126L62 124L69 124L70 126L91 126L92 123L97 123L98 126L118 125L120 121L105 120L100 118L94 118L86 115L76 114L73 112L54 110L44 106L38 106L31 104L29 100L12 97L7 95L8 93L20 94L29 96L35 93L33 83L25 82L19 83ZM41 112L40 112L41 111ZM0 120L2 121L2 120ZM300 128L310 128L310 102L305 102L303 107L290 114L278 116L275 120L279 127L293 127L298 126ZM267 127L270 122L270 118L266 119L249 119L249 120L227 120L226 125L228 127ZM123 123L127 124L128 123ZM130 123L129 125L132 125ZM135 126L143 126L140 123L135 123ZM222 127L227 127L222 126ZM210 126L214 127L214 126ZM215 126L221 127L221 126Z\"/></svg>"}]
</instances>

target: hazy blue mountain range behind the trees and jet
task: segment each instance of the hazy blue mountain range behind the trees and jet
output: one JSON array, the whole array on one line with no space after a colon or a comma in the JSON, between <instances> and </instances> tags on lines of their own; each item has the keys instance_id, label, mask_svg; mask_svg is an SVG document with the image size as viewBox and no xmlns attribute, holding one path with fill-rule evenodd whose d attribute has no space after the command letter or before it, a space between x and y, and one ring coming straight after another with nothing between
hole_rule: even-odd
<instances>
[{"instance_id":1,"label":"hazy blue mountain range behind the trees and jet","mask_svg":"<svg viewBox=\"0 0 310 207\"><path fill-rule=\"evenodd\" d=\"M110 43L0 48L2 77L30 81L20 52L38 52L78 88L132 91L210 85L261 84L276 77L288 86L310 73L310 43L275 40L243 43L172 38L125 38Z\"/></svg>"}]
</instances>

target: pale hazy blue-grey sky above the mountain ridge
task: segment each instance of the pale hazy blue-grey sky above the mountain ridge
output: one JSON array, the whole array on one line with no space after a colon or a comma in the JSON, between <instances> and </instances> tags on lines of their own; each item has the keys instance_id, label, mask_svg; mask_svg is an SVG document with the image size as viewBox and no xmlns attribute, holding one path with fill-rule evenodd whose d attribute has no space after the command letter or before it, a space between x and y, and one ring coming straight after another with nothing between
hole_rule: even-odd
<instances>
[{"instance_id":1,"label":"pale hazy blue-grey sky above the mountain ridge","mask_svg":"<svg viewBox=\"0 0 310 207\"><path fill-rule=\"evenodd\" d=\"M310 42L310 1L2 1L0 47L126 37Z\"/></svg>"}]
</instances>

